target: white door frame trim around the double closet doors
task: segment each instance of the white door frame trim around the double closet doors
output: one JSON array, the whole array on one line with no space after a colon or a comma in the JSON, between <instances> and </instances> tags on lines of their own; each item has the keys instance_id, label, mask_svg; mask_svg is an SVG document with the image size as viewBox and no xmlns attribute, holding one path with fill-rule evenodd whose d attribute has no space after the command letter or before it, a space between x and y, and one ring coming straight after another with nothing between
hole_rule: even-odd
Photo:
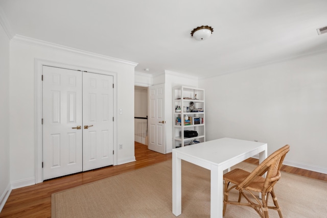
<instances>
[{"instance_id":1,"label":"white door frame trim around the double closet doors","mask_svg":"<svg viewBox=\"0 0 327 218\"><path fill-rule=\"evenodd\" d=\"M42 140L42 72L43 66L52 66L52 67L59 67L65 69L73 69L73 70L80 70L80 71L87 71L93 72L95 74L103 74L113 77L113 116L115 120L117 120L118 113L117 113L117 72L114 71L107 71L101 70L96 68L90 68L85 66L77 66L65 63L59 63L44 59L35 59L35 184L43 182L42 176L42 161L43 161L43 140ZM113 122L113 165L118 165L118 148L117 148L117 138L118 138L118 124L117 122Z\"/></svg>"}]
</instances>

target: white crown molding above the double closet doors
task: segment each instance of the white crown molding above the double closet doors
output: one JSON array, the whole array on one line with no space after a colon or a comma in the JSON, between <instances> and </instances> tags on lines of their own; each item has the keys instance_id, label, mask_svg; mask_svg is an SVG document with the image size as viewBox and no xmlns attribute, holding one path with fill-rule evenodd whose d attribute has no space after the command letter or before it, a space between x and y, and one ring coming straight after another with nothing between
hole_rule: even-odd
<instances>
[{"instance_id":1,"label":"white crown molding above the double closet doors","mask_svg":"<svg viewBox=\"0 0 327 218\"><path fill-rule=\"evenodd\" d=\"M118 59L118 58L112 58L112 57L109 57L109 56L100 55L100 54L96 54L96 53L92 53L92 52L87 52L87 51L84 51L84 50L74 49L73 47L68 47L68 46L64 46L64 45L60 45L60 44L55 44L55 43L52 43L52 42L47 42L47 41L43 41L43 40L39 40L39 39L34 39L34 38L27 37L27 36L15 35L11 39L11 41L19 42L19 43L25 43L25 44L31 44L31 45L43 47L45 49L52 49L52 50L71 53L71 54L74 54L74 55L80 55L80 56L84 56L84 57L103 59L103 60L106 60L106 61L111 61L111 62L114 62L114 63L129 65L129 66L133 66L133 67L135 67L138 64L138 63L135 63L135 62L126 61L126 60L122 60L122 59Z\"/></svg>"}]
</instances>

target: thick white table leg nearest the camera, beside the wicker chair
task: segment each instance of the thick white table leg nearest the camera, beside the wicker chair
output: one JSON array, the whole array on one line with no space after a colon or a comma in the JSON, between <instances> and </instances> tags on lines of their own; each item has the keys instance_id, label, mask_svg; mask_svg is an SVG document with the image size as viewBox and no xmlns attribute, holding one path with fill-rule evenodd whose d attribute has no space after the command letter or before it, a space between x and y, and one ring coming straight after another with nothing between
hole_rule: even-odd
<instances>
[{"instance_id":1,"label":"thick white table leg nearest the camera, beside the wicker chair","mask_svg":"<svg viewBox=\"0 0 327 218\"><path fill-rule=\"evenodd\" d=\"M223 169L211 165L210 216L223 217Z\"/></svg>"}]
</instances>

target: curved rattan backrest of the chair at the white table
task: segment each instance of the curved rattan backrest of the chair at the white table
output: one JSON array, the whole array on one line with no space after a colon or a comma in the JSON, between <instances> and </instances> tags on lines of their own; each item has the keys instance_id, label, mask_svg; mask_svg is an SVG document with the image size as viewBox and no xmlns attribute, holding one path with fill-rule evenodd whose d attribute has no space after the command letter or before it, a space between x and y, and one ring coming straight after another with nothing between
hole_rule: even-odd
<instances>
[{"instance_id":1,"label":"curved rattan backrest of the chair at the white table","mask_svg":"<svg viewBox=\"0 0 327 218\"><path fill-rule=\"evenodd\" d=\"M290 146L286 146L278 149L269 157L267 157L258 167L256 167L252 173L238 185L237 189L246 188L256 178L256 176L262 176L267 173L265 183L262 188L262 192L269 191L273 185L281 178L280 169L282 167L286 154L290 151Z\"/></svg>"}]
</instances>

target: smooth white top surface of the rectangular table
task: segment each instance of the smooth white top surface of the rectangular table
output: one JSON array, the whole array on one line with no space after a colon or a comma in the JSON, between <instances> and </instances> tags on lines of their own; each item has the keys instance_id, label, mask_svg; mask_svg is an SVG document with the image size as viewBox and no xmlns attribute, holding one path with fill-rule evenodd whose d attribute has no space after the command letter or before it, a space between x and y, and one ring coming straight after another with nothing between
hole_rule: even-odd
<instances>
[{"instance_id":1,"label":"smooth white top surface of the rectangular table","mask_svg":"<svg viewBox=\"0 0 327 218\"><path fill-rule=\"evenodd\" d=\"M267 143L247 141L234 138L220 138L205 141L190 146L173 149L177 154L187 155L194 159L220 165L232 158L238 158L245 154L258 154L258 149L267 149Z\"/></svg>"}]
</instances>

